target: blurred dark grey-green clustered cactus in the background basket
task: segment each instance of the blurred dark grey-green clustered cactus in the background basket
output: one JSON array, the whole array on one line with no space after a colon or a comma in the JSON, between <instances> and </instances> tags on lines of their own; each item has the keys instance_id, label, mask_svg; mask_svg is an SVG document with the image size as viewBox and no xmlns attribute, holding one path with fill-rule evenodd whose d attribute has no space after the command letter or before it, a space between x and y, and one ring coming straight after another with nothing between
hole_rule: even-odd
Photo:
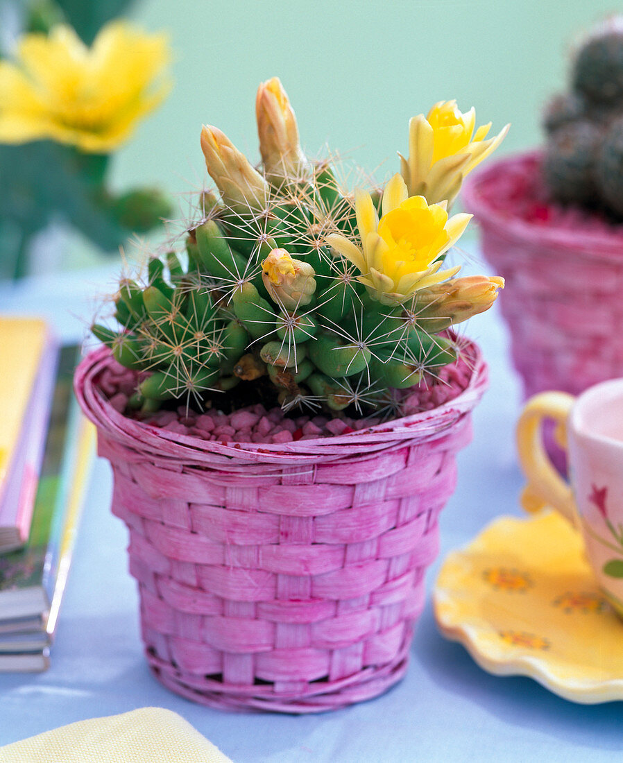
<instances>
[{"instance_id":1,"label":"blurred dark grey-green clustered cactus in the background basket","mask_svg":"<svg viewBox=\"0 0 623 763\"><path fill-rule=\"evenodd\" d=\"M601 208L623 220L623 18L589 34L570 79L570 92L545 109L544 181L563 204Z\"/></svg>"}]
</instances>

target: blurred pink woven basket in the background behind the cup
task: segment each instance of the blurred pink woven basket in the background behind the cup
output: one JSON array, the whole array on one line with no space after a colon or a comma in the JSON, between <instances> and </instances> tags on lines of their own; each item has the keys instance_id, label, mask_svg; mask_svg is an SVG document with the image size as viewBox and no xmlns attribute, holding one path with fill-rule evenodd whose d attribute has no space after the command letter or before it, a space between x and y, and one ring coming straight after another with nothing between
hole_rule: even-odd
<instances>
[{"instance_id":1,"label":"blurred pink woven basket in the background behind the cup","mask_svg":"<svg viewBox=\"0 0 623 763\"><path fill-rule=\"evenodd\" d=\"M506 279L499 304L526 397L623 376L623 227L548 206L540 164L537 152L502 159L462 192L484 256ZM533 221L519 214L530 204Z\"/></svg>"}]
</instances>

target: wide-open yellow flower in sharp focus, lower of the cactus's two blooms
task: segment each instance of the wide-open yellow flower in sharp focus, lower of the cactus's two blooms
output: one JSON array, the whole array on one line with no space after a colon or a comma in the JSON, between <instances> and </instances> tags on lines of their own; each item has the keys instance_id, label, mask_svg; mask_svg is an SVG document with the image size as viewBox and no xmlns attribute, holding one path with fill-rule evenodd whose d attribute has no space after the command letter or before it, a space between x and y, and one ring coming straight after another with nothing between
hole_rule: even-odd
<instances>
[{"instance_id":1,"label":"wide-open yellow flower in sharp focus, lower of the cactus's two blooms","mask_svg":"<svg viewBox=\"0 0 623 763\"><path fill-rule=\"evenodd\" d=\"M463 233L470 214L449 218L445 202L428 204L423 196L408 198L407 186L398 174L386 185L382 204L379 221L370 194L357 192L361 248L339 233L326 239L360 269L358 280L371 297L383 304L401 304L415 291L459 271L460 266L440 271L440 258Z\"/></svg>"}]
</instances>

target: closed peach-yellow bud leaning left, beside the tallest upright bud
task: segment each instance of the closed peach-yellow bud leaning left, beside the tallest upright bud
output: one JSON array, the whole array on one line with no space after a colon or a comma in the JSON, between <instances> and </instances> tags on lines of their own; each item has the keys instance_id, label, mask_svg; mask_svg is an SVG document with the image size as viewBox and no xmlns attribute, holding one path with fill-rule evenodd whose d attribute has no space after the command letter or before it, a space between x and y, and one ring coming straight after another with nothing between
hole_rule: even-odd
<instances>
[{"instance_id":1,"label":"closed peach-yellow bud leaning left, beside the tallest upright bud","mask_svg":"<svg viewBox=\"0 0 623 763\"><path fill-rule=\"evenodd\" d=\"M268 183L218 127L202 127L201 146L205 166L225 204L240 214L266 206Z\"/></svg>"}]
</instances>

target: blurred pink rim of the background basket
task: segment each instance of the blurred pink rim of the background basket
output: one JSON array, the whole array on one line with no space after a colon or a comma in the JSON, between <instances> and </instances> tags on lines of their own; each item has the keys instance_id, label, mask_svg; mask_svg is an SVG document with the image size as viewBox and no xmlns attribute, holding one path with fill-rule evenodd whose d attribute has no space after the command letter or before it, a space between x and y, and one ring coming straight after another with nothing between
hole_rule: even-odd
<instances>
[{"instance_id":1,"label":"blurred pink rim of the background basket","mask_svg":"<svg viewBox=\"0 0 623 763\"><path fill-rule=\"evenodd\" d=\"M489 164L486 169L474 172L466 178L461 191L463 208L472 212L476 223L483 227L495 228L506 238L521 240L534 246L555 246L560 249L572 250L587 259L616 260L623 259L623 235L599 231L590 233L562 225L534 224L521 217L515 217L512 209L504 212L493 209L483 196L483 186L495 179L500 172L509 169L520 169L533 164L543 157L543 150L531 149L502 157Z\"/></svg>"}]
</instances>

